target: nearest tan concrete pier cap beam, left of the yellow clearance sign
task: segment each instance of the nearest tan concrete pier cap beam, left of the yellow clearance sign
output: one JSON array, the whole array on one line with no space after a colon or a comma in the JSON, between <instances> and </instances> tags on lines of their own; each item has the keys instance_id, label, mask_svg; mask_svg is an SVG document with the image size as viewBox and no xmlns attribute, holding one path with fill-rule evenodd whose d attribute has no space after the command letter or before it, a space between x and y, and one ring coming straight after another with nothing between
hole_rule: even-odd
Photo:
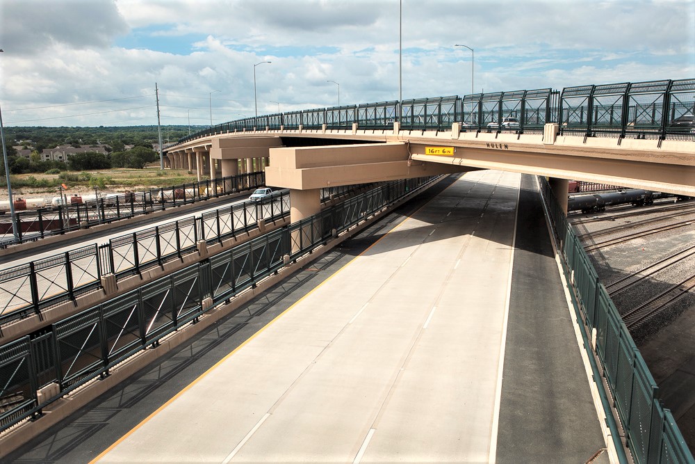
<instances>
[{"instance_id":1,"label":"nearest tan concrete pier cap beam, left of the yellow clearance sign","mask_svg":"<svg viewBox=\"0 0 695 464\"><path fill-rule=\"evenodd\" d=\"M474 170L409 160L405 143L272 148L265 184L296 190Z\"/></svg>"}]
</instances>

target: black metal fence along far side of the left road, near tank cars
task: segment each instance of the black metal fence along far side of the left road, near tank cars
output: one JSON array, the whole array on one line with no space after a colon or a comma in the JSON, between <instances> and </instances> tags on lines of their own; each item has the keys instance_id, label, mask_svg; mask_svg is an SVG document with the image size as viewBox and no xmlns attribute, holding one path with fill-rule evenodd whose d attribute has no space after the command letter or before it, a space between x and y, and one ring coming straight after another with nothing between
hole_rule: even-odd
<instances>
[{"instance_id":1,"label":"black metal fence along far side of the left road, near tank cars","mask_svg":"<svg viewBox=\"0 0 695 464\"><path fill-rule=\"evenodd\" d=\"M249 173L219 179L207 179L145 192L88 200L76 205L61 205L29 211L16 211L17 239L10 214L0 215L0 248L35 241L72 230L120 221L171 207L229 195L265 185L265 173Z\"/></svg>"}]
</instances>

